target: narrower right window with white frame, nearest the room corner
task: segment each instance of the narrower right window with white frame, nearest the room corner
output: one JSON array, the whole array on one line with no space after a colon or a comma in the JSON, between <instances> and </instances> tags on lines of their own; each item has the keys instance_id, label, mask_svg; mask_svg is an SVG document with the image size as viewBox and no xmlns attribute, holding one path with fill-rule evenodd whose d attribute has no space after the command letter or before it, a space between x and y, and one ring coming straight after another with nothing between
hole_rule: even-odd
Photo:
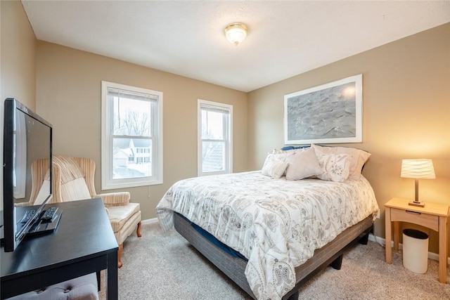
<instances>
[{"instance_id":1,"label":"narrower right window with white frame, nearest the room corner","mask_svg":"<svg viewBox=\"0 0 450 300\"><path fill-rule=\"evenodd\" d=\"M231 173L233 106L198 100L198 176Z\"/></svg>"}]
</instances>

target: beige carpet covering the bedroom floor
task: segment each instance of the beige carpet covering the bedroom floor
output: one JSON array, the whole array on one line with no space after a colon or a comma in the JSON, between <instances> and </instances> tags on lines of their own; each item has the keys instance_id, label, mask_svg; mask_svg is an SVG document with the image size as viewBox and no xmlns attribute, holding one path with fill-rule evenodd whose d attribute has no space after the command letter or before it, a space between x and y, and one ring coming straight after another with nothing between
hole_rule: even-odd
<instances>
[{"instance_id":1,"label":"beige carpet covering the bedroom floor","mask_svg":"<svg viewBox=\"0 0 450 300\"><path fill-rule=\"evenodd\" d=\"M119 299L251 299L175 230L162 233L154 223L141 232L124 243ZM401 252L392 260L385 263L385 249L376 242L356 244L341 270L323 270L302 287L299 299L450 299L449 280L437 280L437 261L428 260L428 272L420 275L403 267Z\"/></svg>"}]
</instances>

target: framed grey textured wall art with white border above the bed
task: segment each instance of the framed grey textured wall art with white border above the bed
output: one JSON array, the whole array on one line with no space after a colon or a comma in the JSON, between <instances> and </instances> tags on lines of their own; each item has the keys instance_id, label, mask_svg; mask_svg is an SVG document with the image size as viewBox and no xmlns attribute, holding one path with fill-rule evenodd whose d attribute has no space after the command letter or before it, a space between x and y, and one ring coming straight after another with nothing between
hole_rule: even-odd
<instances>
[{"instance_id":1,"label":"framed grey textured wall art with white border above the bed","mask_svg":"<svg viewBox=\"0 0 450 300\"><path fill-rule=\"evenodd\" d=\"M362 142L363 75L284 96L285 144Z\"/></svg>"}]
</instances>

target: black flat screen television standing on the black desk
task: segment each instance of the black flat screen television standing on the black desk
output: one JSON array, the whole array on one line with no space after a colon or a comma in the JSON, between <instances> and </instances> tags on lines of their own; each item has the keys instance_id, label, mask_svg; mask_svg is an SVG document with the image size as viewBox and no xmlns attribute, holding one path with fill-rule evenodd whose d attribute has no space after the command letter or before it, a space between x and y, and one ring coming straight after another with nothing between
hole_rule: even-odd
<instances>
[{"instance_id":1,"label":"black flat screen television standing on the black desk","mask_svg":"<svg viewBox=\"0 0 450 300\"><path fill-rule=\"evenodd\" d=\"M13 98L4 102L3 240L5 252L18 247L51 199L52 125ZM46 178L32 178L32 164L44 164ZM39 181L39 182L38 182ZM40 185L40 186L39 186ZM32 209L30 209L32 208ZM23 216L32 211L30 219Z\"/></svg>"}]
</instances>

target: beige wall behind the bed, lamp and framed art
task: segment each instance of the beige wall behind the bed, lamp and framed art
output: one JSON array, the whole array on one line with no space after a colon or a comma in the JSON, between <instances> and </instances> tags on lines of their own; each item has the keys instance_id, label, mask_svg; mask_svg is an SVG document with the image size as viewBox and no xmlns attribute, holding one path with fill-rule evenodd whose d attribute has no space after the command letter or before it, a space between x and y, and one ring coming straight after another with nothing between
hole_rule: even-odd
<instances>
[{"instance_id":1,"label":"beige wall behind the bed, lamp and framed art","mask_svg":"<svg viewBox=\"0 0 450 300\"><path fill-rule=\"evenodd\" d=\"M382 211L375 235L385 236L383 204L413 199L414 181L400 178L401 159L431 158L437 178L420 181L420 198L450 204L450 23L248 93L248 158L260 169L281 148L283 96L363 74L363 143L372 153L363 174ZM437 235L430 236L437 252Z\"/></svg>"}]
</instances>

